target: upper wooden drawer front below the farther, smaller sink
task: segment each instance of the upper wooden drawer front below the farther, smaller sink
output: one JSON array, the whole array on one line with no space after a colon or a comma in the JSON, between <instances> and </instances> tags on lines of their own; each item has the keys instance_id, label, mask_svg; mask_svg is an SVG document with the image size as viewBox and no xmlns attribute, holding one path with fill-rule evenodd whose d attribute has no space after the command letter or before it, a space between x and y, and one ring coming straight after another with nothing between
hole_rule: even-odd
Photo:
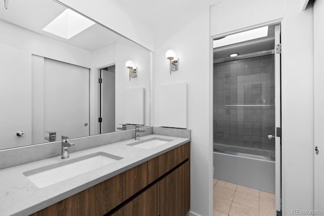
<instances>
[{"instance_id":1,"label":"upper wooden drawer front below the farther, smaller sink","mask_svg":"<svg viewBox=\"0 0 324 216\"><path fill-rule=\"evenodd\" d=\"M189 157L190 142L147 161L147 183L152 183Z\"/></svg>"}]
</instances>

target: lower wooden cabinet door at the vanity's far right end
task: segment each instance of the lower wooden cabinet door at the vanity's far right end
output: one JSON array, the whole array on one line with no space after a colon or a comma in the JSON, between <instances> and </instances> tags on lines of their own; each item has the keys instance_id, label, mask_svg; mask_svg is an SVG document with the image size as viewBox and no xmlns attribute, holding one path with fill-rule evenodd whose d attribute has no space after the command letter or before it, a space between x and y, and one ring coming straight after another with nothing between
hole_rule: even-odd
<instances>
[{"instance_id":1,"label":"lower wooden cabinet door at the vanity's far right end","mask_svg":"<svg viewBox=\"0 0 324 216\"><path fill-rule=\"evenodd\" d=\"M190 209L190 160L160 181L160 216L184 216Z\"/></svg>"}]
</instances>

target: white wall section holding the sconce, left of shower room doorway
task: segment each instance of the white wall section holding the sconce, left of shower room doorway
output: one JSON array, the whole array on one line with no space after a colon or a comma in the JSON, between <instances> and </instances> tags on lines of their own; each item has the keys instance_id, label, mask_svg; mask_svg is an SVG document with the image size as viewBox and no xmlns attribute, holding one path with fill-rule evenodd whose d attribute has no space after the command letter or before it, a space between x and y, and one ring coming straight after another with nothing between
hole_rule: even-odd
<instances>
[{"instance_id":1,"label":"white wall section holding the sconce, left of shower room doorway","mask_svg":"<svg viewBox=\"0 0 324 216\"><path fill-rule=\"evenodd\" d=\"M209 125L209 5L189 1L177 3L192 7L194 13L180 9L173 20L155 29L153 52L152 125L158 125L157 94L160 84L187 82L187 125L191 129L191 211L210 215L212 211L212 146ZM184 15L184 16L182 16ZM185 19L188 17L188 19ZM179 21L179 22L178 22ZM172 29L172 30L171 30ZM170 75L165 54L173 49L179 58L179 70Z\"/></svg>"}]
</instances>

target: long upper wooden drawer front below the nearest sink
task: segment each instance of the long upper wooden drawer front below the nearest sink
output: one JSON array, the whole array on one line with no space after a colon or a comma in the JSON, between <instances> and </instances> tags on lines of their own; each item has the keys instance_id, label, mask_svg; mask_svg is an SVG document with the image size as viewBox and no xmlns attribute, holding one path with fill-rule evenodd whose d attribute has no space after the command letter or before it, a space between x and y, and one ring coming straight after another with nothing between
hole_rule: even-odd
<instances>
[{"instance_id":1,"label":"long upper wooden drawer front below the nearest sink","mask_svg":"<svg viewBox=\"0 0 324 216\"><path fill-rule=\"evenodd\" d=\"M103 215L146 186L147 162L31 215Z\"/></svg>"}]
</instances>

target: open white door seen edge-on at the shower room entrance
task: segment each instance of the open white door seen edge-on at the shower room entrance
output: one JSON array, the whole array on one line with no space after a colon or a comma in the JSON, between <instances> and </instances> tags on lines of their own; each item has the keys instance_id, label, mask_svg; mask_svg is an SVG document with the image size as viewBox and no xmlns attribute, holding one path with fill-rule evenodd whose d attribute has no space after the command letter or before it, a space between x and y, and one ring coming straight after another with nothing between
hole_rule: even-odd
<instances>
[{"instance_id":1,"label":"open white door seen edge-on at the shower room entrance","mask_svg":"<svg viewBox=\"0 0 324 216\"><path fill-rule=\"evenodd\" d=\"M281 48L280 45L280 25L274 27L274 44L276 53L274 54L274 77L275 77L275 128L281 128ZM276 131L275 135L275 209L281 211L281 132Z\"/></svg>"}]
</instances>

